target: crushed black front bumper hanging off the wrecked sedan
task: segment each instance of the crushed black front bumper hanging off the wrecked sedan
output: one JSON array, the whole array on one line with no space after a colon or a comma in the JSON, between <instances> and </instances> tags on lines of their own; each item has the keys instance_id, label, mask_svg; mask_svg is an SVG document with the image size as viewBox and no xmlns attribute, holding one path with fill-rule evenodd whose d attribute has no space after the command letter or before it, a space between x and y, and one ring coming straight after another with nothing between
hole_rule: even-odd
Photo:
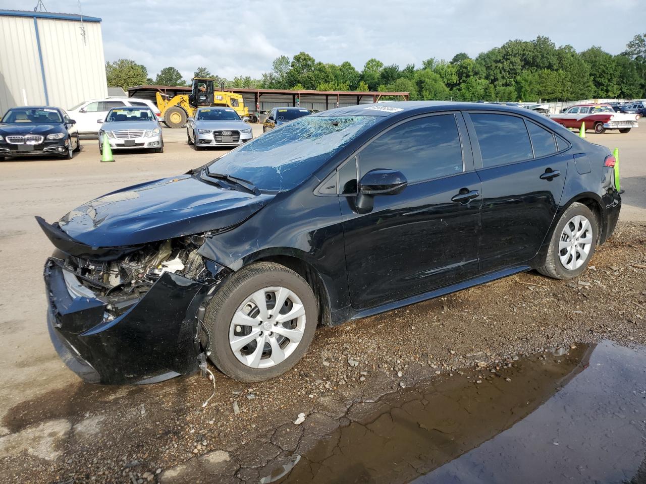
<instances>
[{"instance_id":1,"label":"crushed black front bumper hanging off the wrecked sedan","mask_svg":"<svg viewBox=\"0 0 646 484\"><path fill-rule=\"evenodd\" d=\"M65 274L67 272L67 274ZM198 309L212 286L164 272L120 316L61 259L45 263L47 325L60 358L90 383L155 383L199 368ZM71 277L70 277L71 276Z\"/></svg>"}]
</instances>

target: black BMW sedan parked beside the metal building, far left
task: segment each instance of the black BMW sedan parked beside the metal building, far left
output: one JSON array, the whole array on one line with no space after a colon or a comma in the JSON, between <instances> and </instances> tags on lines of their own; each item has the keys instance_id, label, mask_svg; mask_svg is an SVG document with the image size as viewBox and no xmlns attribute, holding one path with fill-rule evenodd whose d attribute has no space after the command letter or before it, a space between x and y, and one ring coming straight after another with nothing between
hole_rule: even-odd
<instances>
[{"instance_id":1,"label":"black BMW sedan parked beside the metal building, far left","mask_svg":"<svg viewBox=\"0 0 646 484\"><path fill-rule=\"evenodd\" d=\"M61 108L11 108L0 121L0 161L12 156L59 156L72 159L81 149L74 124Z\"/></svg>"}]
</instances>

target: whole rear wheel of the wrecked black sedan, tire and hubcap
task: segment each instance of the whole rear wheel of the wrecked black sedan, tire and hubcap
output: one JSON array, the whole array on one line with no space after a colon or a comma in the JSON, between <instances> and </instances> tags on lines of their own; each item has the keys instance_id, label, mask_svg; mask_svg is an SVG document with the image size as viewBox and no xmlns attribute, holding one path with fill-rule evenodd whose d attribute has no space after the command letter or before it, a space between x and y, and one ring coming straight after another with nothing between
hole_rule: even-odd
<instances>
[{"instance_id":1,"label":"whole rear wheel of the wrecked black sedan, tire and hubcap","mask_svg":"<svg viewBox=\"0 0 646 484\"><path fill-rule=\"evenodd\" d=\"M592 259L598 230L590 208L583 203L572 203L554 228L545 262L538 272L554 279L579 276Z\"/></svg>"}]
</instances>

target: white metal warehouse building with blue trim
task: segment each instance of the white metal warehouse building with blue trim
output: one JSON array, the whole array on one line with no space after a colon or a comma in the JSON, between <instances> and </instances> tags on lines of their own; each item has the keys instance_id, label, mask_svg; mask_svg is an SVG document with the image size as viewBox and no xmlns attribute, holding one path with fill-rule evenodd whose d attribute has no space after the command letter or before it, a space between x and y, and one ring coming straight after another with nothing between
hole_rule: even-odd
<instances>
[{"instance_id":1,"label":"white metal warehouse building with blue trim","mask_svg":"<svg viewBox=\"0 0 646 484\"><path fill-rule=\"evenodd\" d=\"M0 10L0 114L107 97L101 19Z\"/></svg>"}]
</instances>

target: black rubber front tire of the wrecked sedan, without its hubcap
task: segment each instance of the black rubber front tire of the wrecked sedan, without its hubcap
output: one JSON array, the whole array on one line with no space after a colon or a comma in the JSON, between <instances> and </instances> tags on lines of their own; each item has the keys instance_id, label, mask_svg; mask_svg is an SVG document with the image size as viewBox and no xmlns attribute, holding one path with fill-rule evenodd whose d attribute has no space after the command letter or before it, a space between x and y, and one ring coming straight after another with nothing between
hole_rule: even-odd
<instances>
[{"instance_id":1,"label":"black rubber front tire of the wrecked sedan, without its hubcap","mask_svg":"<svg viewBox=\"0 0 646 484\"><path fill-rule=\"evenodd\" d=\"M268 368L251 368L236 358L229 345L231 319L245 299L266 287L285 287L294 292L305 308L306 325L293 353ZM239 270L216 292L206 310L209 358L225 375L238 381L262 381L284 374L306 353L318 323L318 304L312 288L293 270L271 262L253 263Z\"/></svg>"}]
</instances>

